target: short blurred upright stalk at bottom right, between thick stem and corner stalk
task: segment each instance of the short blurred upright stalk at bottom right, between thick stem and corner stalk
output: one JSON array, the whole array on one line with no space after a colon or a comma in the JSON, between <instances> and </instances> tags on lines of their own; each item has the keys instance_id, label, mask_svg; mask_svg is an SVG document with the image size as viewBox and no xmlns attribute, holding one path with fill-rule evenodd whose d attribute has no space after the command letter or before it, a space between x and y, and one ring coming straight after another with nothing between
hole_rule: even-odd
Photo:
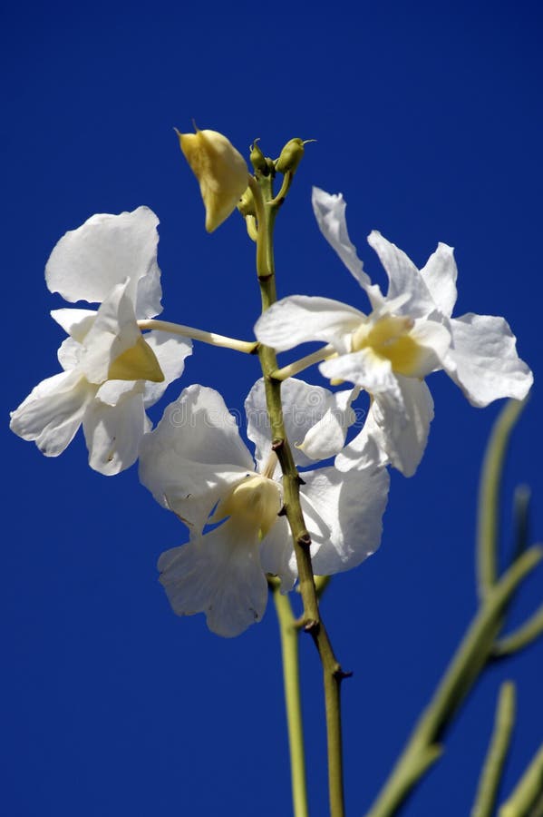
<instances>
[{"instance_id":1,"label":"short blurred upright stalk at bottom right, between thick stem and corner stalk","mask_svg":"<svg viewBox=\"0 0 543 817\"><path fill-rule=\"evenodd\" d=\"M507 759L515 723L515 684L506 682L499 689L494 732L480 775L471 817L492 817L496 805L499 781Z\"/></svg>"}]
</instances>

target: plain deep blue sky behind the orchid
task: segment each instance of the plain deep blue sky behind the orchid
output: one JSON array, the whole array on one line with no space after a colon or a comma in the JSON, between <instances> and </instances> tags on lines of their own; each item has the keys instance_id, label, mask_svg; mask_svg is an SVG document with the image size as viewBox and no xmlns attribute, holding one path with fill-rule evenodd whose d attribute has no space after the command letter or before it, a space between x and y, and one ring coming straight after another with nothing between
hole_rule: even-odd
<instances>
[{"instance_id":1,"label":"plain deep blue sky behind the orchid","mask_svg":"<svg viewBox=\"0 0 543 817\"><path fill-rule=\"evenodd\" d=\"M254 246L235 214L204 231L199 192L173 127L259 136L276 156L316 138L276 231L277 286L346 300L361 291L320 236L311 185L343 192L365 268L373 228L422 265L456 248L457 314L505 315L536 386L509 458L503 551L519 482L542 535L539 379L542 114L538 4L34 4L0 13L4 161L5 627L2 811L11 817L290 813L273 607L235 640L203 615L179 619L157 582L160 552L185 529L135 468L102 477L78 436L42 457L7 431L7 411L58 370L61 305L44 285L53 245L94 212L147 204L160 217L163 317L250 338L259 298ZM382 280L382 279L381 279ZM182 383L243 405L257 360L198 347ZM314 382L325 382L318 372ZM344 684L346 802L362 815L475 611L480 458L499 406L471 408L431 376L436 418L418 473L393 474L383 545L326 593ZM160 418L162 402L153 418ZM512 621L541 601L541 568ZM302 642L311 813L326 813L317 658ZM518 684L504 791L543 739L543 644L493 667L404 809L468 814L499 684Z\"/></svg>"}]
</instances>

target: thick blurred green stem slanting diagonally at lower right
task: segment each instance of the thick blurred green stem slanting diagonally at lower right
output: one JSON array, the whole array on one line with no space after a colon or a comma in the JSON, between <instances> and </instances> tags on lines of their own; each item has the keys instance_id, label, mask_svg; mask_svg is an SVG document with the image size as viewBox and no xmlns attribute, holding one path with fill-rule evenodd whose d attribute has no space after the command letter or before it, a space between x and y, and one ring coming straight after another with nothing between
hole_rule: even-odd
<instances>
[{"instance_id":1,"label":"thick blurred green stem slanting diagonally at lower right","mask_svg":"<svg viewBox=\"0 0 543 817\"><path fill-rule=\"evenodd\" d=\"M506 606L541 558L543 548L530 548L491 588L367 817L390 817L397 812L414 784L439 757L441 734L488 663Z\"/></svg>"}]
</instances>

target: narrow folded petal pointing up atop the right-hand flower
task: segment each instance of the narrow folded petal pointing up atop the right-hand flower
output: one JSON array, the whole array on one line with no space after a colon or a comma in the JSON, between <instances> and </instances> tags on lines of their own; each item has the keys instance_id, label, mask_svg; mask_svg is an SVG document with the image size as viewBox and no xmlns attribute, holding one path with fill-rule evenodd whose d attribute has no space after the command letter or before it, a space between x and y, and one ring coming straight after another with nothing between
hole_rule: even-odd
<instances>
[{"instance_id":1,"label":"narrow folded petal pointing up atop the right-hand flower","mask_svg":"<svg viewBox=\"0 0 543 817\"><path fill-rule=\"evenodd\" d=\"M356 247L349 238L345 220L345 202L342 193L330 195L318 187L313 188L311 195L313 212L320 231L326 241L337 252L345 267L354 276L360 286L367 292L373 307L383 301L383 295L377 285L373 285L369 275L364 272L362 261L356 254Z\"/></svg>"}]
</instances>

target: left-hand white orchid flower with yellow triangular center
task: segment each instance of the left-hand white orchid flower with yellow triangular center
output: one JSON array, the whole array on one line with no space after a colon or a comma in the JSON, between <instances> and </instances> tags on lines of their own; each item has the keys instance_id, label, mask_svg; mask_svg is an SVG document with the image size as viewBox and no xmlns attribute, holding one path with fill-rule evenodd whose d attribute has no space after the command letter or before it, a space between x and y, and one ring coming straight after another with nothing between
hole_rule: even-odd
<instances>
[{"instance_id":1,"label":"left-hand white orchid flower with yellow triangular center","mask_svg":"<svg viewBox=\"0 0 543 817\"><path fill-rule=\"evenodd\" d=\"M69 336L58 350L63 371L12 412L10 428L48 457L61 454L82 425L92 468L106 475L128 468L150 429L145 408L183 371L190 341L142 335L137 324L161 311L158 223L147 207L94 215L53 249L49 290L71 302L102 303L53 310Z\"/></svg>"}]
</instances>

